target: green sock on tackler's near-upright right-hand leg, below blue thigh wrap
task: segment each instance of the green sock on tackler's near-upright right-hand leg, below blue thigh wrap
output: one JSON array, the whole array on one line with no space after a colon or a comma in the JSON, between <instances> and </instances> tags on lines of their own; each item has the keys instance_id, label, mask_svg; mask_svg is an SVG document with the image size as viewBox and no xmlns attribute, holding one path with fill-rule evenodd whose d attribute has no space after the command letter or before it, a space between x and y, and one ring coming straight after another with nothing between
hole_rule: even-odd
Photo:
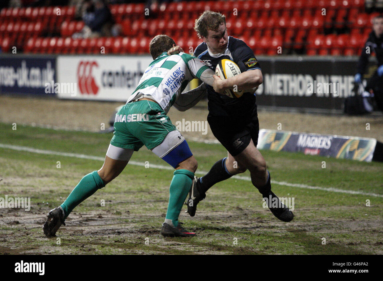
<instances>
[{"instance_id":1,"label":"green sock on tackler's near-upright right-hand leg, below blue thigh wrap","mask_svg":"<svg viewBox=\"0 0 383 281\"><path fill-rule=\"evenodd\" d=\"M178 216L190 190L194 173L185 169L176 170L170 183L170 197L166 219L171 219L174 226L178 226Z\"/></svg>"}]
</instances>

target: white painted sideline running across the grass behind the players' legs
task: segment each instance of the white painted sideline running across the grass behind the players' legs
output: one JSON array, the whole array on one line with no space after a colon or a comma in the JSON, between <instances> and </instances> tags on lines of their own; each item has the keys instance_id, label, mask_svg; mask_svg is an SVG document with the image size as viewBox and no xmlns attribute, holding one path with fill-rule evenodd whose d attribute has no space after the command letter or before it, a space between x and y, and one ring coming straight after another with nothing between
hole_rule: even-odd
<instances>
[{"instance_id":1,"label":"white painted sideline running across the grass behind the players' legs","mask_svg":"<svg viewBox=\"0 0 383 281\"><path fill-rule=\"evenodd\" d=\"M51 150L42 150L42 149L30 148L30 147L27 147L27 146L6 145L6 144L3 144L3 143L0 143L0 148L8 148L8 149L13 149L13 150L18 150L18 151L28 151L28 152L39 153L39 154L67 156L67 157L99 160L99 161L104 161L105 160L105 157L91 156L91 155L85 155L85 154L76 154L76 153L65 153L65 152L58 152L58 151L51 151ZM135 165L135 166L145 166L145 163L136 162L136 161L129 161L129 164ZM156 165L156 164L150 164L150 167L157 168L157 169L171 170L171 171L174 170L170 166L163 166L163 165ZM196 174L202 174L202 175L205 175L206 173L207 172L205 172L205 171L197 171L196 172ZM250 177L247 177L247 176L234 175L233 178L234 179L251 181ZM288 186L288 187L298 187L298 188L306 188L306 189L317 189L317 190L323 190L323 191L328 191L328 192L339 192L339 193L347 193L347 194L359 194L359 195L367 195L367 196L383 198L382 194L376 194L376 193L368 193L368 192L354 191L354 190L344 190L344 189L333 188L333 187L311 186L311 185L305 185L305 184L290 184L288 182L278 182L276 180L272 180L271 182L272 182L272 184L285 185L285 186Z\"/></svg>"}]
</instances>

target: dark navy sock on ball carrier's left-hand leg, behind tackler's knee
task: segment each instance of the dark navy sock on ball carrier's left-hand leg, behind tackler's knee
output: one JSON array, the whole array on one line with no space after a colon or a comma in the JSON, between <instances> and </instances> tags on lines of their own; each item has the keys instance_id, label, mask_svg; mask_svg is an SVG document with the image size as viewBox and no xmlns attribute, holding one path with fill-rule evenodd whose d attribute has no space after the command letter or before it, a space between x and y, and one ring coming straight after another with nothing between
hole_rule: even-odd
<instances>
[{"instance_id":1,"label":"dark navy sock on ball carrier's left-hand leg, behind tackler's knee","mask_svg":"<svg viewBox=\"0 0 383 281\"><path fill-rule=\"evenodd\" d=\"M200 178L201 185L197 185L198 191L200 193L205 193L210 187L212 187L217 182L221 182L223 180L229 179L232 174L229 173L226 168L226 158L218 160L213 167L211 167L210 171Z\"/></svg>"}]
</instances>

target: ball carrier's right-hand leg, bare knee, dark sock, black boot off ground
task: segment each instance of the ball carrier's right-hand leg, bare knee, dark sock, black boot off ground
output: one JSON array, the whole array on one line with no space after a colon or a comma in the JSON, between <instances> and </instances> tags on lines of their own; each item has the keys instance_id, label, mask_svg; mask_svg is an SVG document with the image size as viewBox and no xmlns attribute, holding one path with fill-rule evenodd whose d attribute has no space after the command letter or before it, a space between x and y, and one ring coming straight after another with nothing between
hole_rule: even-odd
<instances>
[{"instance_id":1,"label":"ball carrier's right-hand leg, bare knee, dark sock, black boot off ground","mask_svg":"<svg viewBox=\"0 0 383 281\"><path fill-rule=\"evenodd\" d=\"M270 172L267 171L266 162L262 154L255 147L253 140L249 145L234 157L237 161L244 164L249 169L252 184L259 190L267 203L270 211L281 221L289 222L294 218L294 214L280 202L277 195L271 191ZM272 202L277 202L277 207Z\"/></svg>"}]
</instances>

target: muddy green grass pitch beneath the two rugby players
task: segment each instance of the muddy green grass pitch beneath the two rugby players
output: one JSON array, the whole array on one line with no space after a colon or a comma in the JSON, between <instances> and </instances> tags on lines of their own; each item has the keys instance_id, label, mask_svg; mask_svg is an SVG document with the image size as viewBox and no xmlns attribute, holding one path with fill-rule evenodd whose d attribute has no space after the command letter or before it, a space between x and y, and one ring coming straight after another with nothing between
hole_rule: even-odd
<instances>
[{"instance_id":1,"label":"muddy green grass pitch beneath the two rugby players","mask_svg":"<svg viewBox=\"0 0 383 281\"><path fill-rule=\"evenodd\" d=\"M142 148L133 154L134 164L75 208L66 226L57 232L59 239L48 239L41 228L47 212L65 200L83 175L101 167L111 134L21 125L12 130L10 123L0 123L0 130L1 145L44 150L0 147L0 197L31 198L30 211L0 209L0 253L383 253L383 163L272 151L262 151L272 180L288 183L274 183L272 189L279 197L295 198L296 217L290 223L279 221L262 208L261 195L246 179L246 172L241 175L243 179L229 179L212 187L198 205L195 217L185 214L183 207L180 221L195 231L196 237L163 238L160 226L172 171L157 168L155 165L167 164ZM197 172L208 171L226 156L221 145L188 143L198 161ZM46 151L54 153L44 154ZM146 161L149 168L143 166ZM325 169L322 161L326 161ZM100 206L101 200L105 200L105 206ZM370 200L370 206L366 206L366 200Z\"/></svg>"}]
</instances>

